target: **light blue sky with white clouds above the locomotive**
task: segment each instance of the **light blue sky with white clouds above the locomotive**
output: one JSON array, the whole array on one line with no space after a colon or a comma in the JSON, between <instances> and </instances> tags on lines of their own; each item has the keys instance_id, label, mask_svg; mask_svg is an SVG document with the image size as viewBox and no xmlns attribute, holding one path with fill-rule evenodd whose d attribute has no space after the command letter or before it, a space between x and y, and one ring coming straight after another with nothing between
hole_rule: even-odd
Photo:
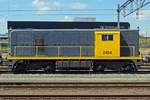
<instances>
[{"instance_id":1,"label":"light blue sky with white clouds above the locomotive","mask_svg":"<svg viewBox=\"0 0 150 100\"><path fill-rule=\"evenodd\" d=\"M7 32L7 21L72 21L74 17L96 17L97 21L117 21L116 8L126 0L0 0L0 34ZM93 10L94 9L94 10ZM135 13L121 16L131 28L150 33L150 4Z\"/></svg>"}]
</instances>

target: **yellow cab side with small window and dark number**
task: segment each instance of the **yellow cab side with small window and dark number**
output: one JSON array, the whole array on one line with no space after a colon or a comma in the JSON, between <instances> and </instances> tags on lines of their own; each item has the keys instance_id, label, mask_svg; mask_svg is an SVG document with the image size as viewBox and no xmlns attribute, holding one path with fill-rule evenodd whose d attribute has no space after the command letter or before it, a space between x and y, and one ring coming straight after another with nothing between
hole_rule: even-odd
<instances>
[{"instance_id":1,"label":"yellow cab side with small window and dark number","mask_svg":"<svg viewBox=\"0 0 150 100\"><path fill-rule=\"evenodd\" d=\"M95 57L120 57L120 32L95 32Z\"/></svg>"}]
</instances>

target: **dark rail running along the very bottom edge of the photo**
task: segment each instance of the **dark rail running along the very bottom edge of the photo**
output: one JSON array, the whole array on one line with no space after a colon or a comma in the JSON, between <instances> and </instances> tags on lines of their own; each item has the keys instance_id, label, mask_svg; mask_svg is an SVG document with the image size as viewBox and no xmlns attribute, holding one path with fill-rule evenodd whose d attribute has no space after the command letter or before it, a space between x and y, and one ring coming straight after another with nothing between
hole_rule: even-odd
<instances>
[{"instance_id":1,"label":"dark rail running along the very bottom edge of the photo","mask_svg":"<svg viewBox=\"0 0 150 100\"><path fill-rule=\"evenodd\" d=\"M1 100L149 100L150 96L1 96Z\"/></svg>"}]
</instances>

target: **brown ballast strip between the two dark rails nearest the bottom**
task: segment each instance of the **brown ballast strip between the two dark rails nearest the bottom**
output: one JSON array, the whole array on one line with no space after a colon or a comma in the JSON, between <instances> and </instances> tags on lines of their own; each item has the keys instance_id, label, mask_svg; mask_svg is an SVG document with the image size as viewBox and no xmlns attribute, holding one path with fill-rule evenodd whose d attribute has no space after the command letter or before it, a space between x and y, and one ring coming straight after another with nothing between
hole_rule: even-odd
<instances>
[{"instance_id":1,"label":"brown ballast strip between the two dark rails nearest the bottom","mask_svg":"<svg viewBox=\"0 0 150 100\"><path fill-rule=\"evenodd\" d=\"M1 84L1 96L91 96L91 97L107 97L107 96L147 96L150 97L149 83L62 83L62 84Z\"/></svg>"}]
</instances>

